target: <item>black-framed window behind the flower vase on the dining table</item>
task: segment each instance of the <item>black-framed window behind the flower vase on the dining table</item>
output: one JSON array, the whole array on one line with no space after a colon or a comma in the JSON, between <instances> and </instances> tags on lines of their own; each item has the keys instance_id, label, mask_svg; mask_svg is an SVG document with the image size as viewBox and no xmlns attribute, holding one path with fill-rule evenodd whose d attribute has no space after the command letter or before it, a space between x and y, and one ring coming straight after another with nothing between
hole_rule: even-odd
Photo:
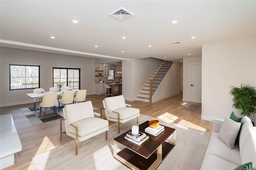
<instances>
[{"instance_id":1,"label":"black-framed window behind the flower vase on the dining table","mask_svg":"<svg viewBox=\"0 0 256 170\"><path fill-rule=\"evenodd\" d=\"M72 89L80 89L80 68L53 68L53 87L58 81Z\"/></svg>"}]
</instances>

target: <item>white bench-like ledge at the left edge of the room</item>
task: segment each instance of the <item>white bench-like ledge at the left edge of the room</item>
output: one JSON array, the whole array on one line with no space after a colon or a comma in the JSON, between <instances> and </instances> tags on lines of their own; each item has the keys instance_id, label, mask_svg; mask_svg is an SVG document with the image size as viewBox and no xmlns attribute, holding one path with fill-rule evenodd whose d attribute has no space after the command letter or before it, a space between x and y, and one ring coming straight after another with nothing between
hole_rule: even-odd
<instances>
[{"instance_id":1,"label":"white bench-like ledge at the left edge of the room","mask_svg":"<svg viewBox=\"0 0 256 170\"><path fill-rule=\"evenodd\" d=\"M0 115L0 168L14 165L14 154L22 150L12 115Z\"/></svg>"}]
</instances>

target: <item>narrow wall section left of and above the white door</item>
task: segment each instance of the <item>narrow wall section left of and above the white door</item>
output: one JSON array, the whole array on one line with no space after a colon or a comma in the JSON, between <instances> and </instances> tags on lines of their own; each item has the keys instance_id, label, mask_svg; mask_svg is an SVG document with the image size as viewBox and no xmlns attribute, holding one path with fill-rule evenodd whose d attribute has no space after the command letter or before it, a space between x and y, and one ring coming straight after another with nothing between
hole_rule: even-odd
<instances>
[{"instance_id":1,"label":"narrow wall section left of and above the white door","mask_svg":"<svg viewBox=\"0 0 256 170\"><path fill-rule=\"evenodd\" d=\"M189 95L189 64L191 63L202 63L202 57L193 57L193 58L186 58L183 59L183 101L190 102L190 95Z\"/></svg>"}]
</instances>

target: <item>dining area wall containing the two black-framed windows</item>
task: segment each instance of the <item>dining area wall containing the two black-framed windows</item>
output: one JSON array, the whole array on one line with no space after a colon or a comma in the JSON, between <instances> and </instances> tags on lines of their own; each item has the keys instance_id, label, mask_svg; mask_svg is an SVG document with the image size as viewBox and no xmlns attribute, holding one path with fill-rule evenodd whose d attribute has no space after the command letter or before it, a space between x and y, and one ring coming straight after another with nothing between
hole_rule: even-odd
<instances>
[{"instance_id":1,"label":"dining area wall containing the two black-framed windows","mask_svg":"<svg viewBox=\"0 0 256 170\"><path fill-rule=\"evenodd\" d=\"M49 91L52 87L52 68L81 68L80 88L86 89L87 94L95 94L94 85L94 59L1 47L0 62L0 106L32 103L33 100L26 95L33 90L9 90L9 64L40 65L41 88ZM50 80L50 82L48 82Z\"/></svg>"}]
</instances>

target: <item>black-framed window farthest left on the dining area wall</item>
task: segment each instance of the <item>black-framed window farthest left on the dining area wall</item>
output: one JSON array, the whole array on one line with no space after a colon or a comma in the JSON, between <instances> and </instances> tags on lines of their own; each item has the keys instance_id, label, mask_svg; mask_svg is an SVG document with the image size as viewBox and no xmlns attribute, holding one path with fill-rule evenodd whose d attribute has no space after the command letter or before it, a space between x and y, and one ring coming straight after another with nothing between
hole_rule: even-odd
<instances>
[{"instance_id":1,"label":"black-framed window farthest left on the dining area wall","mask_svg":"<svg viewBox=\"0 0 256 170\"><path fill-rule=\"evenodd\" d=\"M9 64L10 90L40 88L40 66Z\"/></svg>"}]
</instances>

